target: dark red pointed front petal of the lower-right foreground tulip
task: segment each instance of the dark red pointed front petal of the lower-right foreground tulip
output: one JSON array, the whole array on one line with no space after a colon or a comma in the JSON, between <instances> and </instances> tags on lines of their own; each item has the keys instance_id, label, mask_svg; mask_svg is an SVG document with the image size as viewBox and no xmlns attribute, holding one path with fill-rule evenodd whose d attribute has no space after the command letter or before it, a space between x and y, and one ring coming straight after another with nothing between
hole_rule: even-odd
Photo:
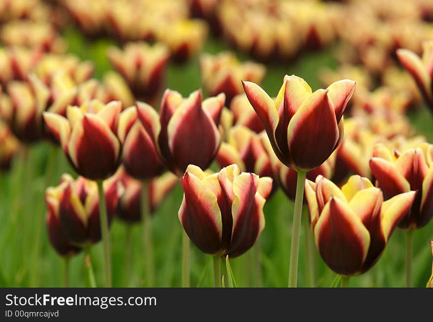
<instances>
[{"instance_id":1,"label":"dark red pointed front petal of the lower-right foreground tulip","mask_svg":"<svg viewBox=\"0 0 433 322\"><path fill-rule=\"evenodd\" d=\"M337 274L350 276L362 266L370 234L361 219L339 198L331 198L314 227L320 256Z\"/></svg>"}]
</instances>

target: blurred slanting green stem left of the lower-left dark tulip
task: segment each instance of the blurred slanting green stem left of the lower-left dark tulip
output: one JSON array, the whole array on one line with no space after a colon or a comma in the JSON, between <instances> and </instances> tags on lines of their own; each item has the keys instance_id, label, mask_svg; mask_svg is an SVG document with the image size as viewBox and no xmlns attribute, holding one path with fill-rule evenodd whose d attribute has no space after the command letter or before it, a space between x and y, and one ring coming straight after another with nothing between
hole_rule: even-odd
<instances>
[{"instance_id":1,"label":"blurred slanting green stem left of the lower-left dark tulip","mask_svg":"<svg viewBox=\"0 0 433 322\"><path fill-rule=\"evenodd\" d=\"M47 163L45 166L44 173L44 188L48 187L50 184L50 180L53 174L54 163L57 159L57 147L51 146L50 153L48 155ZM30 267L30 287L37 287L38 282L38 264L39 264L39 252L40 252L40 240L42 235L42 227L44 225L44 216L45 216L45 204L40 202L40 207L37 207L36 211L36 224L35 224L35 236L33 242L33 254L31 258L31 267Z\"/></svg>"}]
</instances>

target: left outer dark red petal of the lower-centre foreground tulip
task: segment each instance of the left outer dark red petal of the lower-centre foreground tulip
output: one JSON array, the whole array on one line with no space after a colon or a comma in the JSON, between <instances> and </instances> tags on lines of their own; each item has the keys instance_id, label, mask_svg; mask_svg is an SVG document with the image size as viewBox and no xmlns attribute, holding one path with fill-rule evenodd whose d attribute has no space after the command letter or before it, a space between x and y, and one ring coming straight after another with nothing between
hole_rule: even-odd
<instances>
[{"instance_id":1,"label":"left outer dark red petal of the lower-centre foreground tulip","mask_svg":"<svg viewBox=\"0 0 433 322\"><path fill-rule=\"evenodd\" d=\"M184 199L179 220L192 242L206 254L216 254L222 237L221 212L216 195L188 172L181 179Z\"/></svg>"}]
</instances>

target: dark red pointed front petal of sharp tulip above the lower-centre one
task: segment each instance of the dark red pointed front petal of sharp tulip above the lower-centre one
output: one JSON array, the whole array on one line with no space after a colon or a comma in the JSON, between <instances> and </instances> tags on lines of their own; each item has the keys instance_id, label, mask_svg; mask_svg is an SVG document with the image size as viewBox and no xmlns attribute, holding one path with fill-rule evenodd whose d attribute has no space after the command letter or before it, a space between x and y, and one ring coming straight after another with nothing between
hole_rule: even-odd
<instances>
[{"instance_id":1,"label":"dark red pointed front petal of sharp tulip above the lower-centre one","mask_svg":"<svg viewBox=\"0 0 433 322\"><path fill-rule=\"evenodd\" d=\"M190 95L168 123L168 146L175 169L184 172L188 164L209 167L221 142L214 120L203 111L201 92Z\"/></svg>"}]
</instances>

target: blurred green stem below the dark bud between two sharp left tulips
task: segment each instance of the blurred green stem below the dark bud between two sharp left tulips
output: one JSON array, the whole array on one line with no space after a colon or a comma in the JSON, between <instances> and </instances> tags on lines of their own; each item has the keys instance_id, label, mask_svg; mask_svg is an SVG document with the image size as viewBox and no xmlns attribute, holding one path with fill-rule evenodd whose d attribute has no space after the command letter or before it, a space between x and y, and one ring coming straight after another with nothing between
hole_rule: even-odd
<instances>
[{"instance_id":1,"label":"blurred green stem below the dark bud between two sharp left tulips","mask_svg":"<svg viewBox=\"0 0 433 322\"><path fill-rule=\"evenodd\" d=\"M141 223L143 225L143 246L146 260L146 279L149 288L154 287L154 249L152 243L152 222L149 202L149 181L141 183Z\"/></svg>"}]
</instances>

